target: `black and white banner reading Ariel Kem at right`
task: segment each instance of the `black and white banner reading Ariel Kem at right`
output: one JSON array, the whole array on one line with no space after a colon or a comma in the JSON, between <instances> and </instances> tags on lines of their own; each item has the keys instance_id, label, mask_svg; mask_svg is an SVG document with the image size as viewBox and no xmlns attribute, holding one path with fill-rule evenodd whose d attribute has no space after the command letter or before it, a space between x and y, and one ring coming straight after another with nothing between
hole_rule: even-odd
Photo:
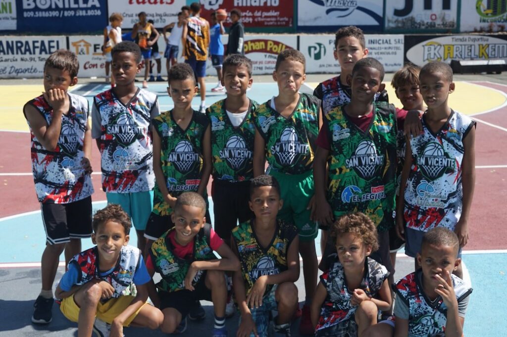
<instances>
[{"instance_id":1,"label":"black and white banner reading Ariel Kem at right","mask_svg":"<svg viewBox=\"0 0 507 337\"><path fill-rule=\"evenodd\" d=\"M431 61L507 58L505 35L405 35L405 57L418 66Z\"/></svg>"}]
</instances>

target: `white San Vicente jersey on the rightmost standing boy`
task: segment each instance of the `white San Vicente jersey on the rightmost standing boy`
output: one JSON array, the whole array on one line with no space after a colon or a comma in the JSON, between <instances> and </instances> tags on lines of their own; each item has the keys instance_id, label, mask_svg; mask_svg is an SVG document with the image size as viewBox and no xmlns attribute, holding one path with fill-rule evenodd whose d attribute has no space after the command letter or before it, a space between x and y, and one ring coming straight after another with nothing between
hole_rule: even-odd
<instances>
[{"instance_id":1,"label":"white San Vicente jersey on the rightmost standing boy","mask_svg":"<svg viewBox=\"0 0 507 337\"><path fill-rule=\"evenodd\" d=\"M454 231L462 210L461 162L463 139L475 127L469 117L451 112L433 134L422 118L424 134L412 138L412 167L405 187L404 217L408 228L428 231L446 227Z\"/></svg>"}]
</instances>

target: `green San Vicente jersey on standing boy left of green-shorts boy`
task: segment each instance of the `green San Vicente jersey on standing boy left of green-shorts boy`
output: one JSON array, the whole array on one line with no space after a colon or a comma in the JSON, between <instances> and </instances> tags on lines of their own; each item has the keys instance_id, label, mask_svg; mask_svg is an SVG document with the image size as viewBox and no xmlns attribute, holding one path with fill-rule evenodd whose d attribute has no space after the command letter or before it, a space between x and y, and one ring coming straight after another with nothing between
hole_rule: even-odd
<instances>
[{"instance_id":1,"label":"green San Vicente jersey on standing boy left of green-shorts boy","mask_svg":"<svg viewBox=\"0 0 507 337\"><path fill-rule=\"evenodd\" d=\"M259 104L250 100L245 118L235 127L225 110L225 101L218 101L206 109L206 116L211 123L213 179L248 181L253 178L255 124L252 113Z\"/></svg>"}]
</instances>

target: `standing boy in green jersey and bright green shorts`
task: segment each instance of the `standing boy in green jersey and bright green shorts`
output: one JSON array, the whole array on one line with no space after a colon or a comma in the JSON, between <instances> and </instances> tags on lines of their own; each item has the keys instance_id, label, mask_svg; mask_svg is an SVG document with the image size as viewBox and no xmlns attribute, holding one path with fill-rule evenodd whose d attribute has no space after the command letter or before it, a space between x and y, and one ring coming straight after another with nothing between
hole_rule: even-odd
<instances>
[{"instance_id":1,"label":"standing boy in green jersey and bright green shorts","mask_svg":"<svg viewBox=\"0 0 507 337\"><path fill-rule=\"evenodd\" d=\"M273 72L273 79L278 83L278 96L259 106L254 113L257 131L253 175L264 174L267 159L267 172L278 180L281 187L283 207L278 217L298 227L306 291L300 330L303 334L311 334L313 326L309 305L317 283L314 240L318 231L312 219L312 168L321 112L319 99L299 93L305 78L303 54L286 49L278 55Z\"/></svg>"}]
</instances>

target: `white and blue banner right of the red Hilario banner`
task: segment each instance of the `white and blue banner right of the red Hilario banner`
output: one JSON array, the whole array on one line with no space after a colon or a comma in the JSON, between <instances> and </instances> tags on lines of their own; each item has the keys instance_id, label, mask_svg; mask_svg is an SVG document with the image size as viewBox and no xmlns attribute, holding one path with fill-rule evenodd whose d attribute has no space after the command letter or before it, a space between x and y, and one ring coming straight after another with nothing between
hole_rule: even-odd
<instances>
[{"instance_id":1,"label":"white and blue banner right of the red Hilario banner","mask_svg":"<svg viewBox=\"0 0 507 337\"><path fill-rule=\"evenodd\" d=\"M365 31L382 31L384 2L379 0L299 0L298 29L336 30L354 25Z\"/></svg>"}]
</instances>

